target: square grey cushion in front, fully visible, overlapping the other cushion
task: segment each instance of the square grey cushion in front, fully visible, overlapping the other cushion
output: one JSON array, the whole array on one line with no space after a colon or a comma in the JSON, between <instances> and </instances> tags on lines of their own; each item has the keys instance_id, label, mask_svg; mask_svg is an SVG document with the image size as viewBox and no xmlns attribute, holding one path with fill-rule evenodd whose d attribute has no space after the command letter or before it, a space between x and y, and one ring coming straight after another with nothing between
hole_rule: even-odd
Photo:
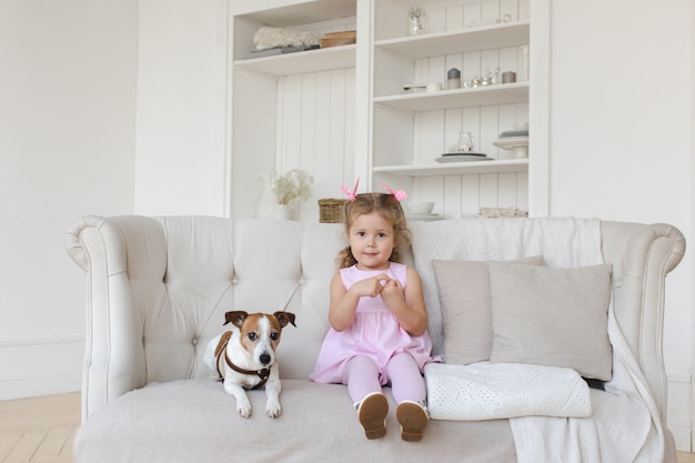
<instances>
[{"instance_id":1,"label":"square grey cushion in front, fully visible, overlapping the other cushion","mask_svg":"<svg viewBox=\"0 0 695 463\"><path fill-rule=\"evenodd\" d=\"M611 380L611 265L490 264L491 362L565 366Z\"/></svg>"}]
</instances>

